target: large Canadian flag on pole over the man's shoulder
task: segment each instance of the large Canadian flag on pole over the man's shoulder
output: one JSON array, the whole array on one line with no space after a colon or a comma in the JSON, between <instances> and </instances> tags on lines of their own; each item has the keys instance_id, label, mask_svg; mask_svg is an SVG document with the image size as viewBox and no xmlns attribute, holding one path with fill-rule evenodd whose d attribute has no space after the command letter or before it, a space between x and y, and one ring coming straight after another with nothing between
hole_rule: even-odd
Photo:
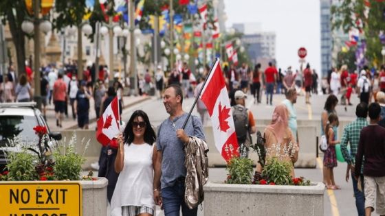
<instances>
[{"instance_id":1,"label":"large Canadian flag on pole over the man's shoulder","mask_svg":"<svg viewBox=\"0 0 385 216\"><path fill-rule=\"evenodd\" d=\"M218 59L203 86L200 98L211 117L215 147L226 161L239 156L230 100Z\"/></svg>"}]
</instances>

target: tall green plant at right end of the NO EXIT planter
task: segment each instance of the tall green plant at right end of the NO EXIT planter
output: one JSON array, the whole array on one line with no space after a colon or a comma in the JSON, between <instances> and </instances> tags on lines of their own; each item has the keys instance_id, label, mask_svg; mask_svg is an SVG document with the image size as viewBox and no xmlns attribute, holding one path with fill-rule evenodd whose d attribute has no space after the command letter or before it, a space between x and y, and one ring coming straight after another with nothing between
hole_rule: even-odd
<instances>
[{"instance_id":1,"label":"tall green plant at right end of the NO EXIT planter","mask_svg":"<svg viewBox=\"0 0 385 216\"><path fill-rule=\"evenodd\" d=\"M83 145L84 139L81 144ZM68 144L63 142L54 152L54 176L56 180L80 180L80 171L85 162L83 155L75 152L76 134L74 134ZM85 150L89 141L85 145ZM63 152L60 152L62 150Z\"/></svg>"}]
</instances>

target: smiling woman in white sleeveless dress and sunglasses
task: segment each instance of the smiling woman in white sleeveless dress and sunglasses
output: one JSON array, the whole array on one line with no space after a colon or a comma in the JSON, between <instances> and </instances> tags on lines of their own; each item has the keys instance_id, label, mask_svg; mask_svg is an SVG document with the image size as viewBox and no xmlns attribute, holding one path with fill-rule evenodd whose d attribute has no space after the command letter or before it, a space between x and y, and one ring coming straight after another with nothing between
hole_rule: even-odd
<instances>
[{"instance_id":1,"label":"smiling woman in white sleeveless dress and sunglasses","mask_svg":"<svg viewBox=\"0 0 385 216\"><path fill-rule=\"evenodd\" d=\"M156 136L146 112L136 110L118 136L115 171L119 174L111 215L153 215L153 161ZM124 143L124 144L123 144Z\"/></svg>"}]
</instances>

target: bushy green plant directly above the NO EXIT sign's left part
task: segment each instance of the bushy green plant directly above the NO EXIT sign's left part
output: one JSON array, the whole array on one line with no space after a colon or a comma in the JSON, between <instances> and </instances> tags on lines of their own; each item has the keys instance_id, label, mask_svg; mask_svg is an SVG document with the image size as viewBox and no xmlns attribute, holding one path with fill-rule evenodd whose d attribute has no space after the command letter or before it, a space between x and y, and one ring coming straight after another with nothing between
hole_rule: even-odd
<instances>
[{"instance_id":1,"label":"bushy green plant directly above the NO EXIT sign's left part","mask_svg":"<svg viewBox=\"0 0 385 216\"><path fill-rule=\"evenodd\" d=\"M11 152L7 157L10 161L7 165L9 172L5 175L4 180L29 181L38 178L35 170L36 156L23 151Z\"/></svg>"}]
</instances>

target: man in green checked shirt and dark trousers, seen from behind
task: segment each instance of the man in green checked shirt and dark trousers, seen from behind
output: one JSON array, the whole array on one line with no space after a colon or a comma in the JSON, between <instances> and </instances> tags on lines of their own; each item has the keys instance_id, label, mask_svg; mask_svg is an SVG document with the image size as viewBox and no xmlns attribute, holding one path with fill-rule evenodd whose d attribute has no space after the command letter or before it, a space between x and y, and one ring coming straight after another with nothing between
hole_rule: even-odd
<instances>
[{"instance_id":1,"label":"man in green checked shirt and dark trousers, seen from behind","mask_svg":"<svg viewBox=\"0 0 385 216\"><path fill-rule=\"evenodd\" d=\"M360 132L362 128L368 125L368 122L366 121L366 117L368 117L368 105L366 105L365 103L358 104L355 108L355 115L357 116L357 119L349 123L349 125L344 128L344 132L342 133L341 152L342 156L348 164L349 169L351 170L351 180L353 182L355 207L357 208L358 215L364 216L365 196L362 191L358 190L357 180L355 180L354 178L354 160L355 155L357 154L358 143L360 141ZM350 153L347 149L348 143L350 145ZM361 167L358 167L358 169L361 170ZM363 178L362 173L360 173L360 178ZM349 176L347 176L347 181L348 180Z\"/></svg>"}]
</instances>

